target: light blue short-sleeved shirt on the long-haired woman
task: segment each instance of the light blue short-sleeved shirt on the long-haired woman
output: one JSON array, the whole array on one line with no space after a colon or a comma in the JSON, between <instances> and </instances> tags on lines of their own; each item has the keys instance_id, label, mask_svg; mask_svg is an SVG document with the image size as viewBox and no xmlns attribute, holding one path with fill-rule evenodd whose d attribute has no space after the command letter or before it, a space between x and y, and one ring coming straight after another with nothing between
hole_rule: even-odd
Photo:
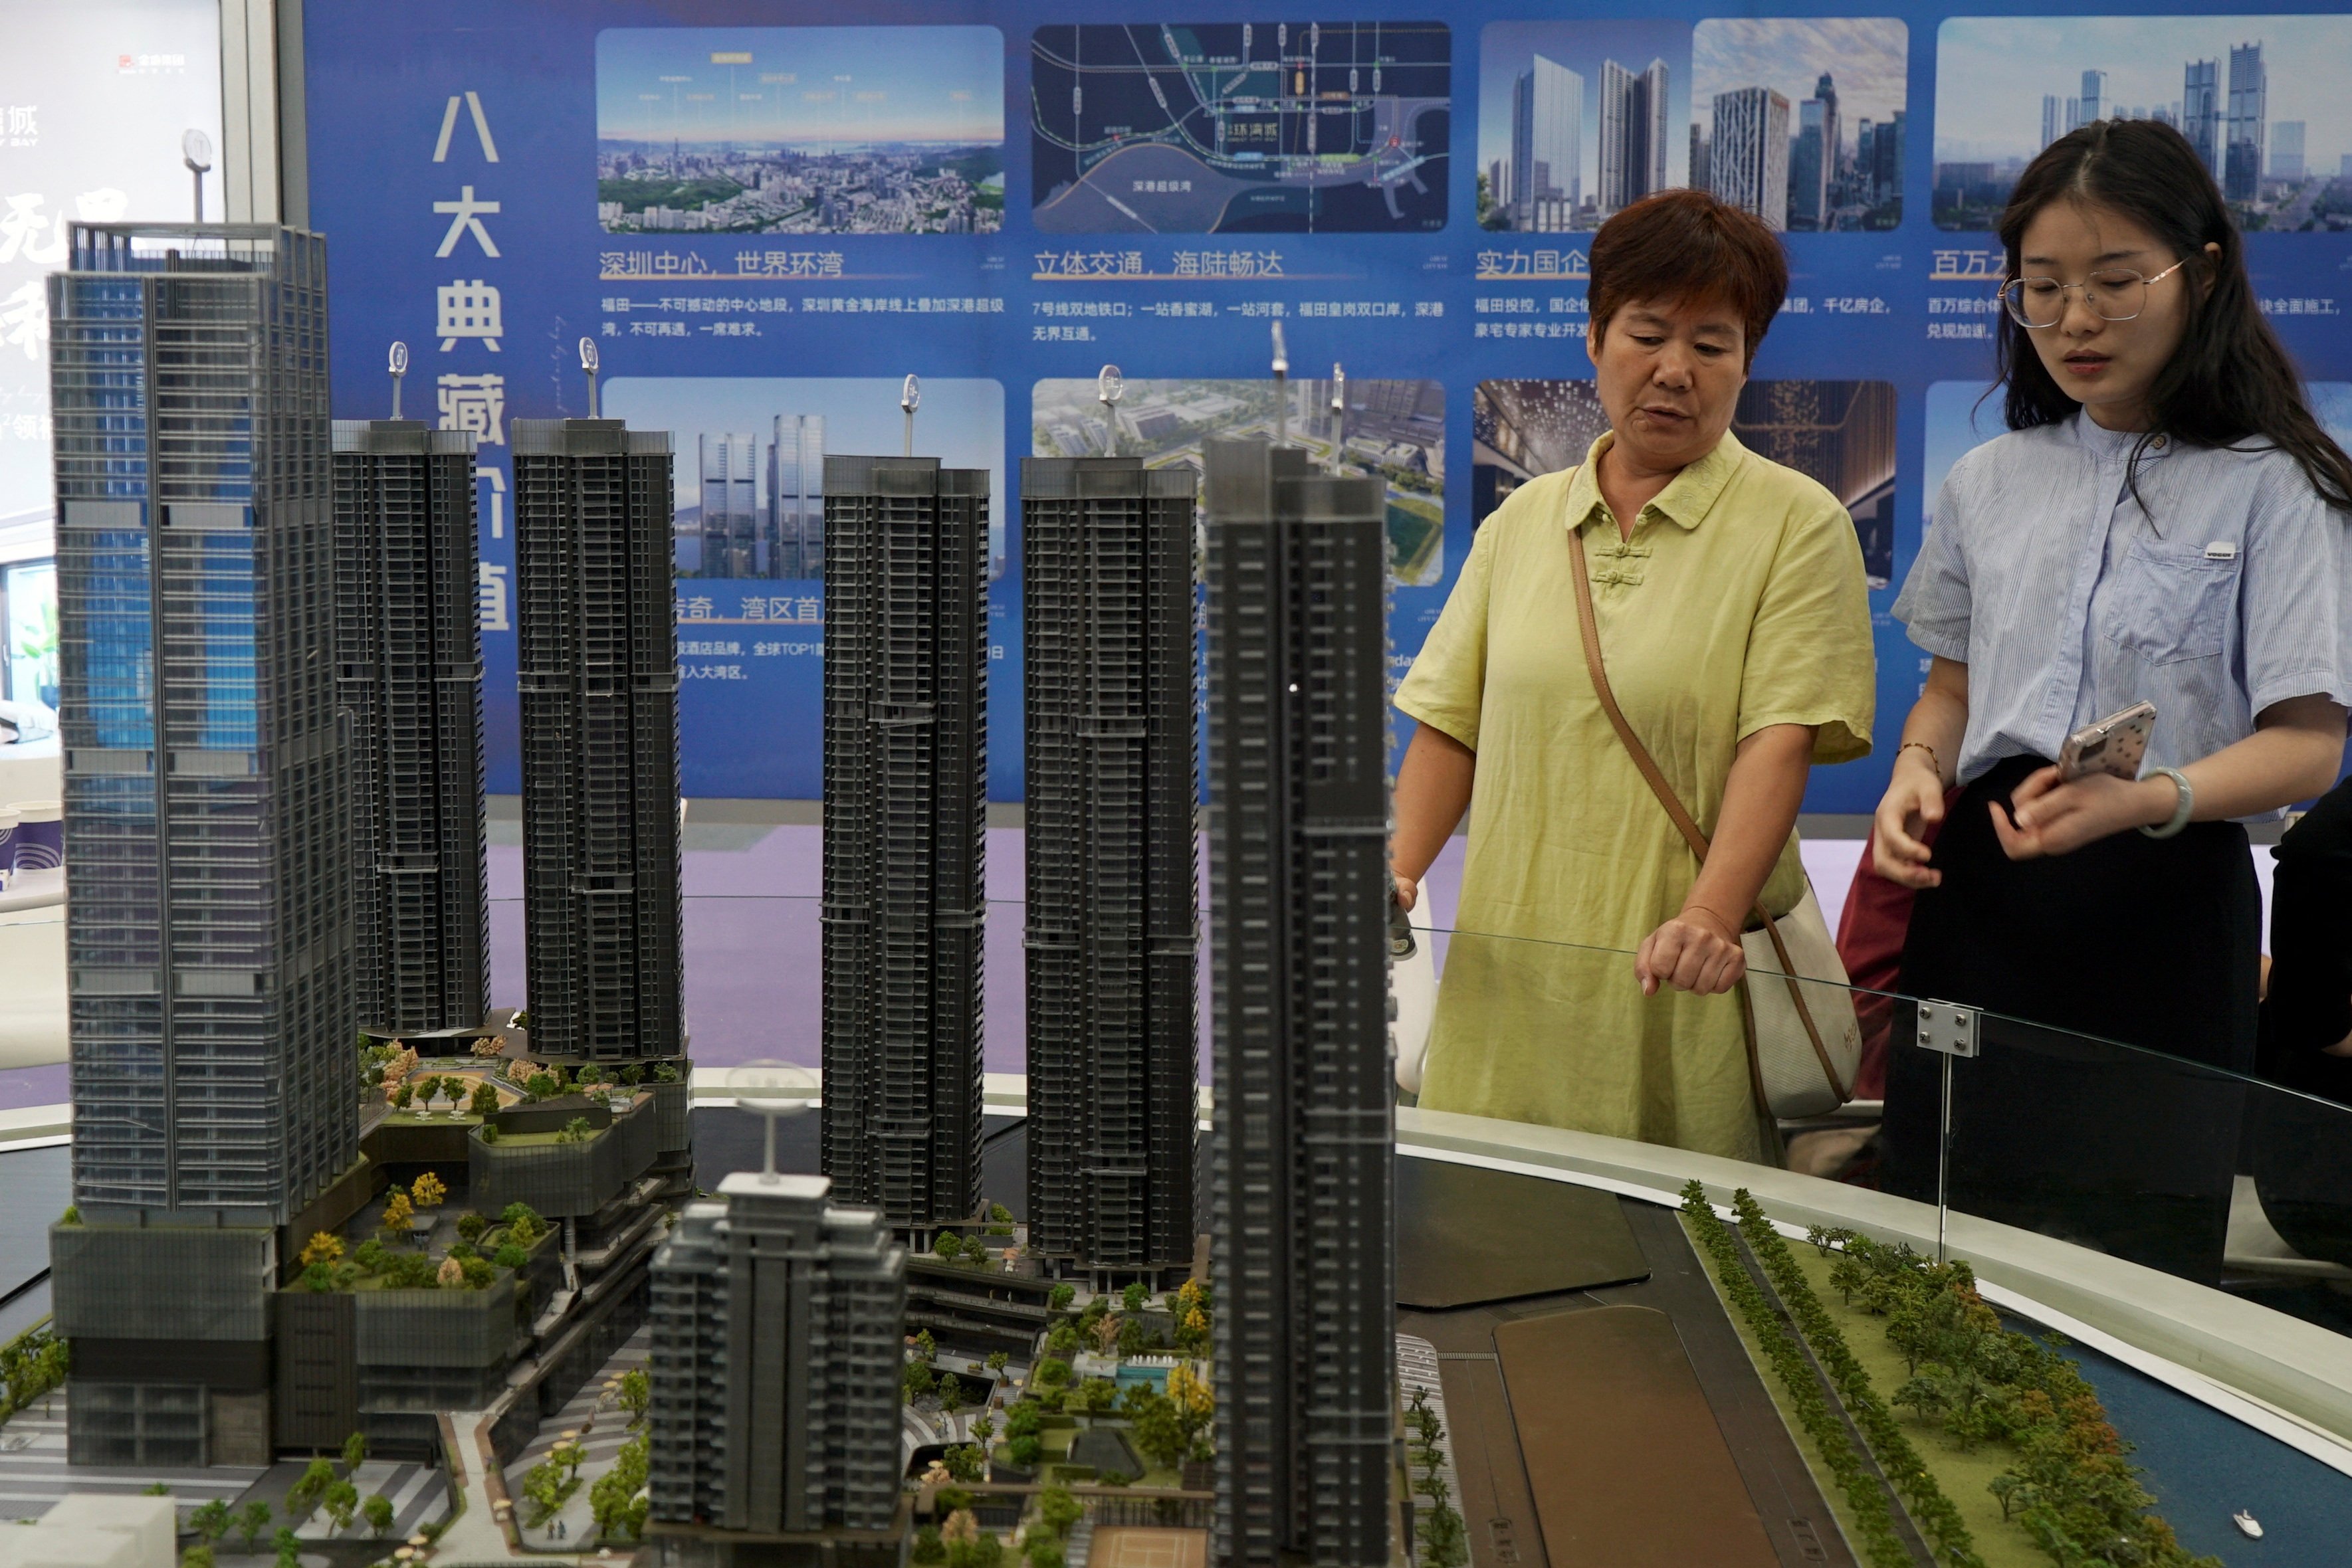
<instances>
[{"instance_id":1,"label":"light blue short-sleeved shirt on the long-haired woman","mask_svg":"<svg viewBox=\"0 0 2352 1568\"><path fill-rule=\"evenodd\" d=\"M2291 696L2352 701L2352 517L2284 451L2164 437L2133 498L2133 442L2077 414L1952 465L1893 614L1969 665L1962 783L2143 698L2147 766L2244 741Z\"/></svg>"}]
</instances>

